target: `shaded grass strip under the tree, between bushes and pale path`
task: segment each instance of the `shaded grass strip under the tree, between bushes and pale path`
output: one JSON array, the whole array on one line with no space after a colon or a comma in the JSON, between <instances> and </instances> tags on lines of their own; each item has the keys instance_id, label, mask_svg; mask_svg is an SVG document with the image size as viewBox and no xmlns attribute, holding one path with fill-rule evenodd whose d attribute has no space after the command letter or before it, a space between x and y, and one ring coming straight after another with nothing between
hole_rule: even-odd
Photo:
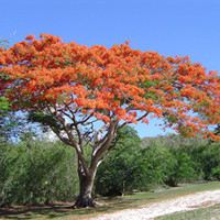
<instances>
[{"instance_id":1,"label":"shaded grass strip under the tree, between bushes and pale path","mask_svg":"<svg viewBox=\"0 0 220 220\"><path fill-rule=\"evenodd\" d=\"M54 207L16 207L13 209L0 210L0 219L88 219L100 213L112 212L121 209L138 208L142 205L172 199L178 196L185 196L204 190L220 189L220 182L204 184L182 185L175 188L160 188L154 191L138 193L124 197L99 198L97 201L102 206L96 209L77 209L73 210L67 205ZM211 210L212 208L210 208ZM217 206L217 208L219 207ZM209 210L207 210L209 212ZM182 215L182 213L180 213ZM185 213L184 213L185 215ZM187 213L188 215L188 213ZM196 213L195 213L196 215ZM169 218L169 217L167 217ZM183 219L182 217L179 219ZM186 219L186 218L184 218ZM190 217L189 217L190 219Z\"/></svg>"}]
</instances>

